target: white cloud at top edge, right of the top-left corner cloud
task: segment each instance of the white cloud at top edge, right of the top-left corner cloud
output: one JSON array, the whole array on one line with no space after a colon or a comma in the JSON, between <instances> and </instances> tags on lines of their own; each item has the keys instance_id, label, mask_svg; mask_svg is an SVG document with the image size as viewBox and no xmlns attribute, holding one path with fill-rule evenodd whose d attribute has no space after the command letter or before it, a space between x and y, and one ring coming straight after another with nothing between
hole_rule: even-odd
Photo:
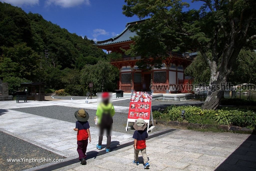
<instances>
[{"instance_id":1,"label":"white cloud at top edge, right of the top-left corner cloud","mask_svg":"<svg viewBox=\"0 0 256 171\"><path fill-rule=\"evenodd\" d=\"M46 5L58 5L63 8L78 6L81 4L90 5L90 0L46 0Z\"/></svg>"}]
</instances>

